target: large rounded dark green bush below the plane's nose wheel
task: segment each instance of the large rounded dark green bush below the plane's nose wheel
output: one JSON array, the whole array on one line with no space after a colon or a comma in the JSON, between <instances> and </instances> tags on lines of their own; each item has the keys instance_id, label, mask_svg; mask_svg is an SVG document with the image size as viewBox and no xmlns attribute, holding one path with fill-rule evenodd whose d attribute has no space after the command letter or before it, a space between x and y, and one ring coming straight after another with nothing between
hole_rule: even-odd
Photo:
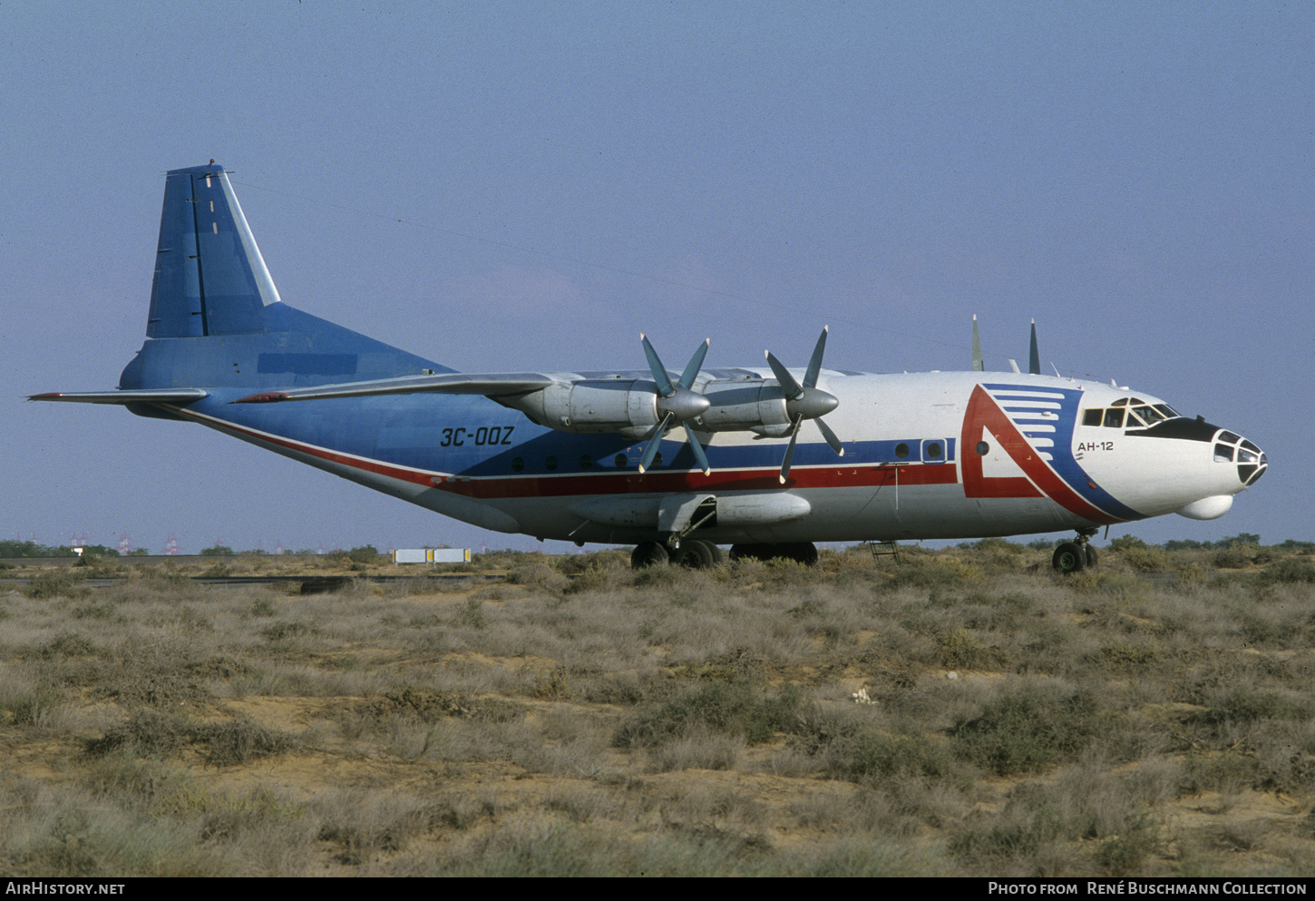
<instances>
[{"instance_id":1,"label":"large rounded dark green bush below the plane's nose wheel","mask_svg":"<svg viewBox=\"0 0 1315 901\"><path fill-rule=\"evenodd\" d=\"M951 730L956 752L999 776L1041 772L1110 735L1120 717L1088 691L1023 688Z\"/></svg>"}]
</instances>

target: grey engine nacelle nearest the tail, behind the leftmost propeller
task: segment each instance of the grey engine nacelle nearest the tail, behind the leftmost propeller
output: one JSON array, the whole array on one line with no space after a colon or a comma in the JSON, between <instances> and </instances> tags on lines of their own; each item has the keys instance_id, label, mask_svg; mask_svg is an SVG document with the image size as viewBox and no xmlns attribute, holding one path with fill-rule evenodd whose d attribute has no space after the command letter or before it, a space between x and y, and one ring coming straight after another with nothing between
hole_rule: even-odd
<instances>
[{"instance_id":1,"label":"grey engine nacelle nearest the tail, behind the leftmost propeller","mask_svg":"<svg viewBox=\"0 0 1315 901\"><path fill-rule=\"evenodd\" d=\"M500 402L558 431L619 433L639 439L658 425L658 385L644 379L581 379Z\"/></svg>"}]
</instances>

